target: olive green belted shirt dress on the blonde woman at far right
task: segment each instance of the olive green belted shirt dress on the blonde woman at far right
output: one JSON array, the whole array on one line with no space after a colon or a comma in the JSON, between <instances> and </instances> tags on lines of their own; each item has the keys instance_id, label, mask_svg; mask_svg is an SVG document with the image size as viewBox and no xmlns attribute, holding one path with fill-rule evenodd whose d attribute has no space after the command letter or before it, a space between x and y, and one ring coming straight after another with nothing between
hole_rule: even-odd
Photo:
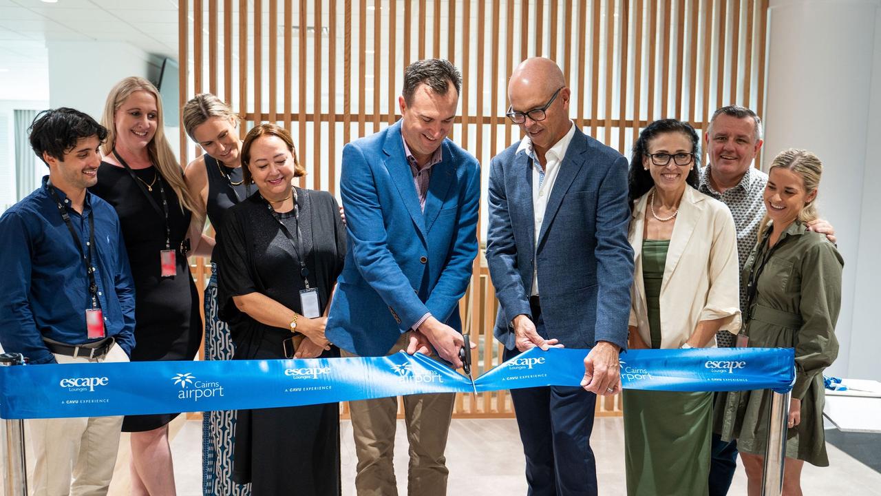
<instances>
[{"instance_id":1,"label":"olive green belted shirt dress on the blonde woman at far right","mask_svg":"<svg viewBox=\"0 0 881 496\"><path fill-rule=\"evenodd\" d=\"M744 281L769 251L763 239L746 260ZM824 235L801 222L784 230L756 281L756 295L744 315L744 334L753 348L795 348L796 384L802 400L801 423L788 430L786 455L820 467L829 465L823 432L823 370L838 356L835 321L841 302L844 260ZM765 455L771 392L719 395L715 432L737 439L737 449Z\"/></svg>"}]
</instances>

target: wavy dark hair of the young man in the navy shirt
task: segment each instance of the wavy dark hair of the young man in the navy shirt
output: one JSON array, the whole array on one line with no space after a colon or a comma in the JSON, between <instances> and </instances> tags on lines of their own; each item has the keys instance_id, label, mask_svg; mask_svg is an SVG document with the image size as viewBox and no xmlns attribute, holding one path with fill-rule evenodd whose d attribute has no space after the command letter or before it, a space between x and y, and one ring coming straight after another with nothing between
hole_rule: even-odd
<instances>
[{"instance_id":1,"label":"wavy dark hair of the young man in the navy shirt","mask_svg":"<svg viewBox=\"0 0 881 496\"><path fill-rule=\"evenodd\" d=\"M27 132L33 153L43 162L43 153L64 160L64 154L76 147L80 139L97 136L99 143L107 139L107 129L95 119L65 107L43 110L33 118Z\"/></svg>"}]
</instances>

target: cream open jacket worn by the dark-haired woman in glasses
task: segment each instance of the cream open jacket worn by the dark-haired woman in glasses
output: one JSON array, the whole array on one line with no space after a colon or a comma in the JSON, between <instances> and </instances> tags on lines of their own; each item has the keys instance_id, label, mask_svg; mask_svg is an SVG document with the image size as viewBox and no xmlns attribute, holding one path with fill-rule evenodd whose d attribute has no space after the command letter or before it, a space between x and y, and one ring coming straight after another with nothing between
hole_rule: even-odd
<instances>
[{"instance_id":1,"label":"cream open jacket worn by the dark-haired woman in glasses","mask_svg":"<svg viewBox=\"0 0 881 496\"><path fill-rule=\"evenodd\" d=\"M654 189L654 188L653 188ZM646 288L642 281L642 231L651 191L636 201L630 233L635 274L630 325L651 343ZM721 329L740 330L737 231L725 204L685 186L661 283L661 348L679 348L701 320L725 319ZM707 347L715 346L715 337Z\"/></svg>"}]
</instances>

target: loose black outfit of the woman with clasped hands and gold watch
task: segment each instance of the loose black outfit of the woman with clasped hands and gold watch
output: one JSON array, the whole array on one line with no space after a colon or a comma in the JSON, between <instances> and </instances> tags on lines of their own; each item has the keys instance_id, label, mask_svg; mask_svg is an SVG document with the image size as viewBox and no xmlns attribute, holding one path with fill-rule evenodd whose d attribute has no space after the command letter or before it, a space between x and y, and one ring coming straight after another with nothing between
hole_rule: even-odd
<instances>
[{"instance_id":1,"label":"loose black outfit of the woman with clasped hands and gold watch","mask_svg":"<svg viewBox=\"0 0 881 496\"><path fill-rule=\"evenodd\" d=\"M310 286L323 314L343 270L345 229L337 201L327 192L297 189L300 230ZM301 313L300 259L278 219L296 239L293 213L273 214L255 193L226 211L218 232L220 318L233 334L234 359L284 358L285 328L270 327L240 312L233 297L259 292ZM322 357L336 357L331 348ZM235 425L233 480L251 483L255 495L340 494L339 404L240 410Z\"/></svg>"}]
</instances>

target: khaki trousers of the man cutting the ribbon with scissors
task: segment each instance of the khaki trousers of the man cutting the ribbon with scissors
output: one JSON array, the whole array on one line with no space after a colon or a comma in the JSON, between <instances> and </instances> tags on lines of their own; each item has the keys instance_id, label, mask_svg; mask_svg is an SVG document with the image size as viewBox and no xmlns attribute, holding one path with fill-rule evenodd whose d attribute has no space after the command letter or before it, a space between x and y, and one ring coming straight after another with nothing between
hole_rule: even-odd
<instances>
[{"instance_id":1,"label":"khaki trousers of the man cutting the ribbon with scissors","mask_svg":"<svg viewBox=\"0 0 881 496\"><path fill-rule=\"evenodd\" d=\"M401 334L390 354L406 349L410 333ZM341 350L343 357L357 357ZM410 442L407 493L411 496L447 494L447 434L455 394L403 396L404 421ZM395 450L397 398L349 402L358 474L358 496L396 496L392 463Z\"/></svg>"}]
</instances>

